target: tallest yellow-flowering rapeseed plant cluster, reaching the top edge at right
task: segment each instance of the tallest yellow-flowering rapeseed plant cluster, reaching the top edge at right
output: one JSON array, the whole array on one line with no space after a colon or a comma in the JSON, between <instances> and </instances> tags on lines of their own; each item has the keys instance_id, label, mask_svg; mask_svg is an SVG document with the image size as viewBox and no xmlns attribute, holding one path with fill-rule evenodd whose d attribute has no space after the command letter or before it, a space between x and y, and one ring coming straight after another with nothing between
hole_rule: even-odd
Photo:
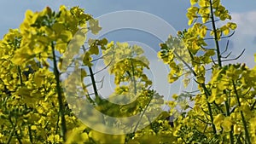
<instances>
[{"instance_id":1,"label":"tallest yellow-flowering rapeseed plant cluster, reaching the top edge at right","mask_svg":"<svg viewBox=\"0 0 256 144\"><path fill-rule=\"evenodd\" d=\"M171 67L169 82L185 75L185 82L194 78L199 89L196 94L189 93L195 106L190 107L185 117L177 118L174 135L181 143L252 143L255 68L249 69L245 64L224 65L224 61L238 59L244 50L236 59L228 59L230 54L224 54L229 41L224 49L219 44L234 34L236 24L227 22L217 27L218 20L231 20L220 0L190 0L190 3L187 17L192 26L160 44L160 58ZM209 40L215 43L214 48L207 47ZM212 72L208 82L207 71ZM177 100L178 96L173 98Z\"/></svg>"}]
</instances>

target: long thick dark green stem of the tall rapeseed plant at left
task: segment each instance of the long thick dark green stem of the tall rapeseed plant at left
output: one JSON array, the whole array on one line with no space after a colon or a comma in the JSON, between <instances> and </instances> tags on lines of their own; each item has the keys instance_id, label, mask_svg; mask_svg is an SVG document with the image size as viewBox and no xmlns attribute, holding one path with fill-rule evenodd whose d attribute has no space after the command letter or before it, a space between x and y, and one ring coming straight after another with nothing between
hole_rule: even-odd
<instances>
[{"instance_id":1,"label":"long thick dark green stem of the tall rapeseed plant at left","mask_svg":"<svg viewBox=\"0 0 256 144\"><path fill-rule=\"evenodd\" d=\"M60 72L57 67L54 43L51 43L51 49L52 49L52 55L53 55L56 89L57 89L58 102L59 102L59 114L61 116L61 136L62 136L63 140L66 141L67 125L66 125L66 119L65 119L65 107L63 105L63 100L62 100L62 95L61 95Z\"/></svg>"}]
</instances>

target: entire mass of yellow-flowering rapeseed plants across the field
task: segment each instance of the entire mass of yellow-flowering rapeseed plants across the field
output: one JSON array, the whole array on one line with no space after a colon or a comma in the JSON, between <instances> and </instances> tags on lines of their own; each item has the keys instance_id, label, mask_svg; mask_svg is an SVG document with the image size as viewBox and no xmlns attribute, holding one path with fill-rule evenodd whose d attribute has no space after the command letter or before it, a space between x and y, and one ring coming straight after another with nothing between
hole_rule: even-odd
<instances>
[{"instance_id":1,"label":"entire mass of yellow-flowering rapeseed plants across the field","mask_svg":"<svg viewBox=\"0 0 256 144\"><path fill-rule=\"evenodd\" d=\"M167 118L176 113L180 95L172 95L173 101L165 101L151 89L153 82L143 71L150 67L141 47L109 42L107 38L89 39L88 47L72 41L79 29L84 34L79 36L81 41L87 32L96 34L102 29L100 21L79 7L67 9L62 5L58 11L49 7L40 12L27 10L20 27L10 29L0 41L0 143L255 143L256 66L232 63L244 50L235 59L229 58L228 39L237 26L230 22L229 11L220 0L190 0L190 3L186 14L189 28L166 37L158 52L159 59L170 67L166 76L170 84L184 76L184 87L195 81L198 88L187 94L194 105L186 103L183 107L186 112L172 124ZM217 25L220 21L221 26ZM214 47L208 47L210 41ZM224 48L220 41L227 42ZM67 49L71 42L80 47ZM81 54L77 55L79 51ZM72 60L74 56L76 59ZM97 92L97 72L92 69L100 59L117 85L110 99L118 99L122 94L131 96L124 98L127 100L137 96L137 101L117 105L102 99ZM73 72L67 72L70 77L64 81L61 74L68 68ZM80 84L77 93L72 93L78 89L75 77L78 72L79 78L89 78L90 84ZM211 72L209 81L206 72ZM89 87L93 93L89 93ZM67 102L67 97L78 97L79 92L84 92L84 99L98 111L112 117L141 112L140 122L147 126L139 130L139 124L123 124L124 130L132 128L132 131L120 135L93 130L73 112L73 107L84 107L83 103L74 106ZM154 105L148 108L153 99ZM149 121L148 113L154 114L157 111L154 107L162 104L171 107L170 111L163 111ZM79 114L86 114L91 123L98 119L113 126L123 123L119 120L108 123L107 118L84 111L81 108Z\"/></svg>"}]
</instances>

